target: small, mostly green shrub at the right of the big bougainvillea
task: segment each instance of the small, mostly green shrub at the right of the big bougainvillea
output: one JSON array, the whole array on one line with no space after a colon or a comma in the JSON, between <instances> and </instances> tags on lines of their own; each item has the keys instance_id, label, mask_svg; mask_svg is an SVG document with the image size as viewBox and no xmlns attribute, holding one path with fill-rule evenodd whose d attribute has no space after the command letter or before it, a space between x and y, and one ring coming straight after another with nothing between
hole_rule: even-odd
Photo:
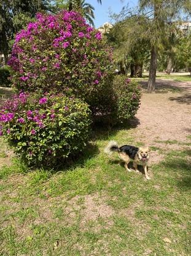
<instances>
[{"instance_id":1,"label":"small, mostly green shrub at the right of the big bougainvillea","mask_svg":"<svg viewBox=\"0 0 191 256\"><path fill-rule=\"evenodd\" d=\"M116 75L113 90L118 120L123 121L134 117L140 104L141 86L125 75Z\"/></svg>"}]
</instances>

